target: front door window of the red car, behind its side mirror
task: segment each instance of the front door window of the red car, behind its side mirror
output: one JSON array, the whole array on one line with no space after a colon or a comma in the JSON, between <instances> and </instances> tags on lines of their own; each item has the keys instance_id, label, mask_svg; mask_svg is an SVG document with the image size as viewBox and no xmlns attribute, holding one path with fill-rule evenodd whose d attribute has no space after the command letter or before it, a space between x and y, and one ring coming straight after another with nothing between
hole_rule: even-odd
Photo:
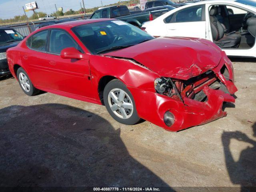
<instances>
[{"instance_id":1,"label":"front door window of the red car, behind its side mirror","mask_svg":"<svg viewBox=\"0 0 256 192\"><path fill-rule=\"evenodd\" d=\"M49 51L51 53L60 54L62 49L74 47L78 49L78 44L73 40L73 38L65 31L52 29L50 34L50 45Z\"/></svg>"}]
</instances>

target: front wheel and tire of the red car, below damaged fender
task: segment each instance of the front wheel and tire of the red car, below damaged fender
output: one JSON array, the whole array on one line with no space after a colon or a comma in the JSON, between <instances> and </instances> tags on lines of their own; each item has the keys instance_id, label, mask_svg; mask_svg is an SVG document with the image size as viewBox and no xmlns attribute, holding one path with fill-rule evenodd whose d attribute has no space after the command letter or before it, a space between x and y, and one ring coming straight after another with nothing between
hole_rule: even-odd
<instances>
[{"instance_id":1,"label":"front wheel and tire of the red car, below damaged fender","mask_svg":"<svg viewBox=\"0 0 256 192\"><path fill-rule=\"evenodd\" d=\"M134 125L140 120L134 98L120 80L114 79L105 86L103 98L108 113L117 122Z\"/></svg>"}]
</instances>

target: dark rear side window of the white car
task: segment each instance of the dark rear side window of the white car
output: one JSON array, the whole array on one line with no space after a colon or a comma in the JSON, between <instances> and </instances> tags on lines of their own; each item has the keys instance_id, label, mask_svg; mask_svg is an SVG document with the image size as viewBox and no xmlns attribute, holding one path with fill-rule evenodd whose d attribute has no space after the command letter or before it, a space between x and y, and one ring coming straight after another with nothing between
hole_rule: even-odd
<instances>
[{"instance_id":1,"label":"dark rear side window of the white car","mask_svg":"<svg viewBox=\"0 0 256 192\"><path fill-rule=\"evenodd\" d=\"M175 16L175 22L195 22L202 21L202 6L186 8L178 12Z\"/></svg>"}]
</instances>

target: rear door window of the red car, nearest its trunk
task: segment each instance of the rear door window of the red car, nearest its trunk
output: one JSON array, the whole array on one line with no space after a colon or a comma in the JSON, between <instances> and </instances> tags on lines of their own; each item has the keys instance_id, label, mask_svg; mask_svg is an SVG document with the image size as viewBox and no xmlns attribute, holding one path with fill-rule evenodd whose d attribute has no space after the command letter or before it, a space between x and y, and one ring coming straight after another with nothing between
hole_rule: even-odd
<instances>
[{"instance_id":1,"label":"rear door window of the red car, nearest its trunk","mask_svg":"<svg viewBox=\"0 0 256 192\"><path fill-rule=\"evenodd\" d=\"M27 40L27 46L34 50L46 51L48 30L38 32Z\"/></svg>"}]
</instances>

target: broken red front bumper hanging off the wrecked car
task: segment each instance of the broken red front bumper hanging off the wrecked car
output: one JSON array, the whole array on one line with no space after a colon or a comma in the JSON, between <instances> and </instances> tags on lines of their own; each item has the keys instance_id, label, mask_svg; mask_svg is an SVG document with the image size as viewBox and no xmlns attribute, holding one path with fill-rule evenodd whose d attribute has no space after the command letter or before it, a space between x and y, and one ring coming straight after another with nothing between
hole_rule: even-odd
<instances>
[{"instance_id":1,"label":"broken red front bumper hanging off the wrecked car","mask_svg":"<svg viewBox=\"0 0 256 192\"><path fill-rule=\"evenodd\" d=\"M212 69L218 80L222 82L230 94L237 91L234 85L234 76L232 65L226 63L229 71L227 79L220 69L224 66L217 66ZM172 99L168 96L160 95L150 91L144 91L137 88L129 87L134 96L136 109L138 114L144 120L152 122L158 126L170 131L179 131L192 126L208 123L226 116L226 112L222 110L223 102L235 102L235 98L222 90L214 90L205 86L202 91L207 96L207 101L200 102L187 97L183 97L183 101ZM172 126L167 126L164 122L164 114L170 111L175 119Z\"/></svg>"}]
</instances>

